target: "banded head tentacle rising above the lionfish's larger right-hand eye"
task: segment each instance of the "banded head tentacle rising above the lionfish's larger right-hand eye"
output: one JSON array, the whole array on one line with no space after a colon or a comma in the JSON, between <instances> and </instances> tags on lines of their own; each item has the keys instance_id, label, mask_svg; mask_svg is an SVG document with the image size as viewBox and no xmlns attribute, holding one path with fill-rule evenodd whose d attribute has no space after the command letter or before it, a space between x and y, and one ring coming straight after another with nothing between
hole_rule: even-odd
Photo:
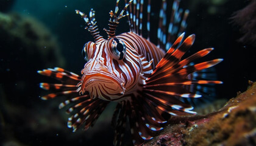
<instances>
[{"instance_id":1,"label":"banded head tentacle rising above the lionfish's larger right-hand eye","mask_svg":"<svg viewBox=\"0 0 256 146\"><path fill-rule=\"evenodd\" d=\"M118 13L118 4L119 4L119 0L116 0L116 8L115 8L115 13L111 10L109 12L110 14L110 19L109 19L109 23L108 23L108 29L104 29L107 32L108 38L112 38L115 36L115 32L116 32L116 27L119 24L119 19L124 18L125 16L129 15L128 13L126 15L124 15L124 11L127 9L127 7L132 3L133 0L130 0L126 6L124 6L124 9L120 12L120 14L117 16Z\"/></svg>"}]
</instances>

